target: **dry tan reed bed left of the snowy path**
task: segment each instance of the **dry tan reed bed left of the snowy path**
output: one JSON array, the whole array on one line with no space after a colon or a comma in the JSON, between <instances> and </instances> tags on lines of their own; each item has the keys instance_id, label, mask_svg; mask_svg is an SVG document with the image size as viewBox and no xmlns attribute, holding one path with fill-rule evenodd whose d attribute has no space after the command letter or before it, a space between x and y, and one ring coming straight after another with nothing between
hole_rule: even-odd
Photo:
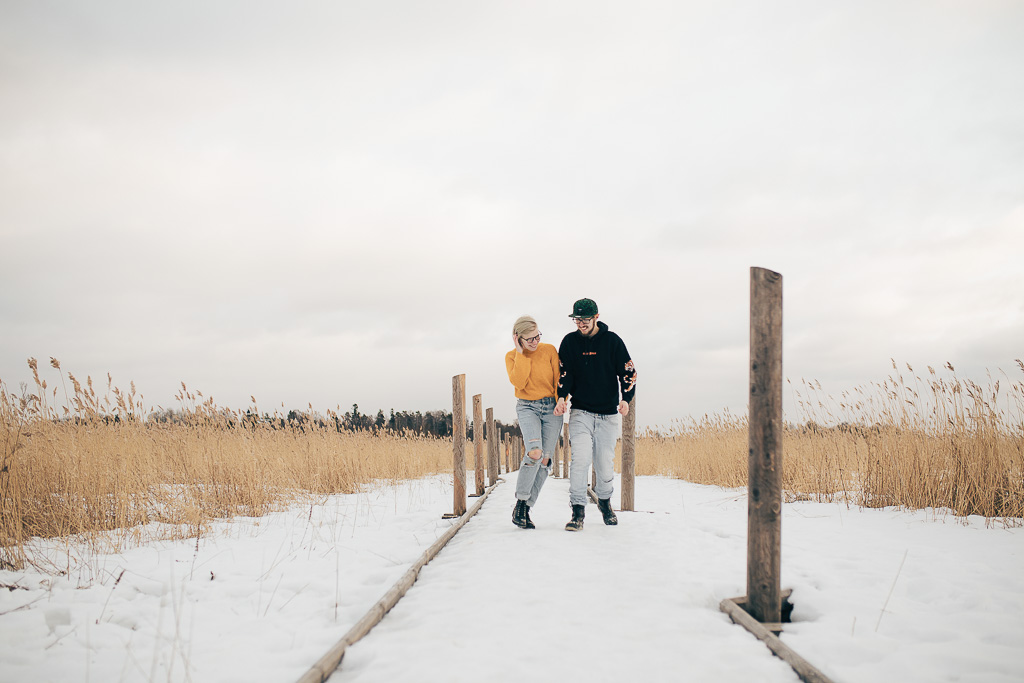
<instances>
[{"instance_id":1,"label":"dry tan reed bed left of the snowy path","mask_svg":"<svg viewBox=\"0 0 1024 683\"><path fill-rule=\"evenodd\" d=\"M60 372L59 362L51 366ZM374 481L450 471L450 441L348 432L323 420L260 419L216 407L182 385L173 420L142 419L141 396L67 374L57 391L30 360L35 391L0 382L0 566L25 561L32 538L117 531L199 536L213 519L258 516ZM58 412L60 415L58 415Z\"/></svg>"}]
</instances>

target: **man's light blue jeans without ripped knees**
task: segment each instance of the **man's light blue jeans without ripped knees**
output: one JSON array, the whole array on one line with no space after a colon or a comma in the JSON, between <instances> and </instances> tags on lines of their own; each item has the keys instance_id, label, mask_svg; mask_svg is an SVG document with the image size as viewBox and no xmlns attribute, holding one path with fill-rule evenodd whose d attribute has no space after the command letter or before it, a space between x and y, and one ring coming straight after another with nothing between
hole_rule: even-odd
<instances>
[{"instance_id":1,"label":"man's light blue jeans without ripped knees","mask_svg":"<svg viewBox=\"0 0 1024 683\"><path fill-rule=\"evenodd\" d=\"M622 416L598 415L572 409L569 412L569 504L587 505L587 474L591 464L597 475L594 493L599 499L611 498L615 478L615 440L622 433Z\"/></svg>"}]
</instances>

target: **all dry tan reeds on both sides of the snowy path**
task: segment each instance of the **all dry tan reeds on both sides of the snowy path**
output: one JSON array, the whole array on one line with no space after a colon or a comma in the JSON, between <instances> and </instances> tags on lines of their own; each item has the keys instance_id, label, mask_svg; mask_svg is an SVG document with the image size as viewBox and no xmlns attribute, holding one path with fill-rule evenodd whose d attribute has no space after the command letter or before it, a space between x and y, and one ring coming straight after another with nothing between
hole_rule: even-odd
<instances>
[{"instance_id":1,"label":"all dry tan reeds on both sides of the snowy path","mask_svg":"<svg viewBox=\"0 0 1024 683\"><path fill-rule=\"evenodd\" d=\"M446 439L343 431L330 411L298 421L242 414L184 384L174 419L144 419L134 384L122 391L108 376L100 396L91 378L83 385L50 366L53 388L35 359L33 390L0 382L0 567L24 564L32 538L199 537L213 519L451 470ZM801 420L784 427L786 496L1020 524L1024 384L1004 376L983 387L948 364L949 375L929 368L927 379L908 366L908 381L893 368L839 399L817 382L794 391ZM742 486L746 432L746 418L728 413L648 429L636 472Z\"/></svg>"}]
</instances>

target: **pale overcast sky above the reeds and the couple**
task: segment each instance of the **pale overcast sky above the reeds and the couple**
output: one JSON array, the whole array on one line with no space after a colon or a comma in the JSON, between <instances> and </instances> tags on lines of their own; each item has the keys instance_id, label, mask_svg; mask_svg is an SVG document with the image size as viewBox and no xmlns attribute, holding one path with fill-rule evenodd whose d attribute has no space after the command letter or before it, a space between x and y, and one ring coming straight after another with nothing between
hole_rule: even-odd
<instances>
[{"instance_id":1,"label":"pale overcast sky above the reeds and the couple","mask_svg":"<svg viewBox=\"0 0 1024 683\"><path fill-rule=\"evenodd\" d=\"M590 297L641 425L743 414L751 266L794 383L1022 379L1021 2L2 0L0 102L8 391L511 422Z\"/></svg>"}]
</instances>

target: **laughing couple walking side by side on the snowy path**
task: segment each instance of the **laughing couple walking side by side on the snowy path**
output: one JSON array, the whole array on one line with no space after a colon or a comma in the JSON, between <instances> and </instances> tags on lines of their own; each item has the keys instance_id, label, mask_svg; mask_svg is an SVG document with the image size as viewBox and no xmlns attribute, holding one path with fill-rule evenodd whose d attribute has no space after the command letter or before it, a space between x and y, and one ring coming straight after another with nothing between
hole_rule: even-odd
<instances>
[{"instance_id":1,"label":"laughing couple walking side by side on the snowy path","mask_svg":"<svg viewBox=\"0 0 1024 683\"><path fill-rule=\"evenodd\" d=\"M561 435L563 416L569 413L569 505L572 518L567 531L583 529L587 506L587 473L593 464L597 476L597 506L605 524L617 524L611 510L615 441L622 417L636 388L637 372L626 344L608 326L598 322L597 304L580 299L569 317L577 331L562 339L556 350L541 343L541 329L529 315L512 328L515 349L505 354L509 381L515 387L516 415L526 444L526 455L516 480L516 506L512 522L536 528L529 509L537 503ZM572 399L569 410L566 399Z\"/></svg>"}]
</instances>

